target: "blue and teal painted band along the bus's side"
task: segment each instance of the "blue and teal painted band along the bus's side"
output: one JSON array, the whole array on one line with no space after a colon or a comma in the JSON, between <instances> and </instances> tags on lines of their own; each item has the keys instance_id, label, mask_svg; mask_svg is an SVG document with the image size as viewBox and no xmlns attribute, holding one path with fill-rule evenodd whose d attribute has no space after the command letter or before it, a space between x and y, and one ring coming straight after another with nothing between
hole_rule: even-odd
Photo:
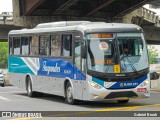
<instances>
[{"instance_id":1,"label":"blue and teal painted band along the bus's side","mask_svg":"<svg viewBox=\"0 0 160 120\"><path fill-rule=\"evenodd\" d=\"M18 66L14 66L14 65ZM86 80L86 76L73 64L62 59L39 58L37 75ZM31 68L20 57L9 57L9 72L34 74ZM36 75L35 74L35 75Z\"/></svg>"}]
</instances>

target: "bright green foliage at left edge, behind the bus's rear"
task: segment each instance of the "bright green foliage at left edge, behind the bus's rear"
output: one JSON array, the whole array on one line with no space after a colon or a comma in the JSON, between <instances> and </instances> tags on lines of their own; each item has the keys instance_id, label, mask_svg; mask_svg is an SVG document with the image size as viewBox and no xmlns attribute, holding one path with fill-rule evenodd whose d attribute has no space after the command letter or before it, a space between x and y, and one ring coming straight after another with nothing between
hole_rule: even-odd
<instances>
[{"instance_id":1,"label":"bright green foliage at left edge, behind the bus's rear","mask_svg":"<svg viewBox=\"0 0 160 120\"><path fill-rule=\"evenodd\" d=\"M0 42L0 68L7 68L8 63L8 43Z\"/></svg>"}]
</instances>

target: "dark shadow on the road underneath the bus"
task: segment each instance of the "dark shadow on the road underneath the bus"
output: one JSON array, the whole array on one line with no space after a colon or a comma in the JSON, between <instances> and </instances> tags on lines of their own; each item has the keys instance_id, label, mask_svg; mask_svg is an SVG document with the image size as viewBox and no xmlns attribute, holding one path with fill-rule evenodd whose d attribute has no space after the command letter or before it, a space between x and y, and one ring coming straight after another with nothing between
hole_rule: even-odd
<instances>
[{"instance_id":1,"label":"dark shadow on the road underneath the bus","mask_svg":"<svg viewBox=\"0 0 160 120\"><path fill-rule=\"evenodd\" d=\"M27 96L27 93L15 93L16 95L20 96ZM64 103L65 104L65 99L60 96L56 95L50 95L50 94L44 94L43 97L33 97L33 99L41 99L41 100L47 100L47 101L53 101L53 102L58 102L58 103ZM143 99L144 100L144 99ZM136 102L135 102L136 101ZM139 99L141 101L141 99ZM66 104L67 105L67 104ZM143 106L144 102L138 102L137 100L131 100L127 104L119 104L115 100L107 100L107 101L78 101L78 104L76 104L80 107L84 108L113 108L113 107L131 107L131 106ZM147 105L147 103L146 103Z\"/></svg>"}]
</instances>

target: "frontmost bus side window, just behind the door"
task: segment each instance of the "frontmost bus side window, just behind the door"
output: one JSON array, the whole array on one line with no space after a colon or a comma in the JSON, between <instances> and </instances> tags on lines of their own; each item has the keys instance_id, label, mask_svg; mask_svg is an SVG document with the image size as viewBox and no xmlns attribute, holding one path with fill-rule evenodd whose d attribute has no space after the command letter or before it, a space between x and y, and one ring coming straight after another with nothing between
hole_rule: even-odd
<instances>
[{"instance_id":1,"label":"frontmost bus side window, just behind the door","mask_svg":"<svg viewBox=\"0 0 160 120\"><path fill-rule=\"evenodd\" d=\"M62 56L72 56L72 35L62 35Z\"/></svg>"}]
</instances>

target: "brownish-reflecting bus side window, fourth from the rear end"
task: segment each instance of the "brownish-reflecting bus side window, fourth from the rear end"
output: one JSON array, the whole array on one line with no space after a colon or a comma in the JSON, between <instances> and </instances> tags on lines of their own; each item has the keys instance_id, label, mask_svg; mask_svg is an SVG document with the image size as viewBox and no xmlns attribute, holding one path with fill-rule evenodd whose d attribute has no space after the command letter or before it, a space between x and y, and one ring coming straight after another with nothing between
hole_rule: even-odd
<instances>
[{"instance_id":1,"label":"brownish-reflecting bus side window, fourth from the rear end","mask_svg":"<svg viewBox=\"0 0 160 120\"><path fill-rule=\"evenodd\" d=\"M32 36L30 41L31 55L38 55L38 36Z\"/></svg>"}]
</instances>

